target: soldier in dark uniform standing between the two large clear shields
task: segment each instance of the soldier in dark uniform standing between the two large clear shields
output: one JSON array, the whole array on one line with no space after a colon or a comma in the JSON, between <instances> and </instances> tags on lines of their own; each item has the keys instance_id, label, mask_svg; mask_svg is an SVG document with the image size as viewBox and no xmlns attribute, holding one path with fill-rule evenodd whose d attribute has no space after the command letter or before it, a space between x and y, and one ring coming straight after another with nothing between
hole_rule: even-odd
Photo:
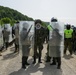
<instances>
[{"instance_id":1,"label":"soldier in dark uniform standing between the two large clear shields","mask_svg":"<svg viewBox=\"0 0 76 75\"><path fill-rule=\"evenodd\" d=\"M38 55L38 62L41 62L41 54L43 49L43 43L44 43L44 28L42 27L41 20L35 20L35 35L34 35L34 61L33 64L36 63L36 57L37 57L37 50L39 52Z\"/></svg>"}]
</instances>

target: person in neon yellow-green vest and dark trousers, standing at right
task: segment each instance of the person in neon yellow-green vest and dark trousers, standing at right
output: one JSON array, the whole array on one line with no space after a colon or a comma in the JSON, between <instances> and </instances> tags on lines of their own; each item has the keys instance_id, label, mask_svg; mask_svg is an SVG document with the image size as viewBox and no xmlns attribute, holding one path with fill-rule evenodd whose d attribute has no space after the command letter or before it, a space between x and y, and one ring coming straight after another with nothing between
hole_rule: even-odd
<instances>
[{"instance_id":1,"label":"person in neon yellow-green vest and dark trousers, standing at right","mask_svg":"<svg viewBox=\"0 0 76 75\"><path fill-rule=\"evenodd\" d=\"M66 29L64 30L64 54L66 54L66 50L68 48L70 55L72 55L72 37L73 37L73 30L71 26L68 24Z\"/></svg>"}]
</instances>

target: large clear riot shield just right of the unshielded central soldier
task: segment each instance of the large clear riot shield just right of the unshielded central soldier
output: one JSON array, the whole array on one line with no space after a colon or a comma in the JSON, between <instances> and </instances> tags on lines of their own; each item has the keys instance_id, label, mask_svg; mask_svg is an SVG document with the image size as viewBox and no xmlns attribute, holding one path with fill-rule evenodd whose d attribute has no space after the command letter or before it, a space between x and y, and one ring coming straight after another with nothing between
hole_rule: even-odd
<instances>
[{"instance_id":1,"label":"large clear riot shield just right of the unshielded central soldier","mask_svg":"<svg viewBox=\"0 0 76 75\"><path fill-rule=\"evenodd\" d=\"M64 23L51 22L49 32L49 56L61 57L64 50Z\"/></svg>"}]
</instances>

